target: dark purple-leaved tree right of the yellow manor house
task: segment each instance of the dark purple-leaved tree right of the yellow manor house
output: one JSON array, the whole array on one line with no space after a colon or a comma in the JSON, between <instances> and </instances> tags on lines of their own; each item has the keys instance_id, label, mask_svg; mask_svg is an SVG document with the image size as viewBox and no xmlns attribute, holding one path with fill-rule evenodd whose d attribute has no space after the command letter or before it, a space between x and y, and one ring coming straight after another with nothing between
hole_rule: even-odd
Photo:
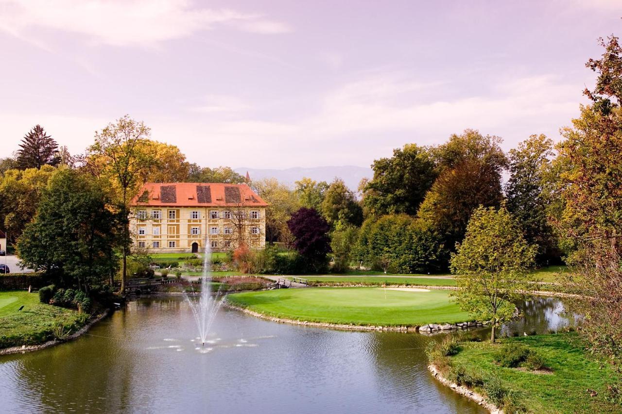
<instances>
[{"instance_id":1,"label":"dark purple-leaved tree right of the yellow manor house","mask_svg":"<svg viewBox=\"0 0 622 414\"><path fill-rule=\"evenodd\" d=\"M330 226L315 209L302 207L287 221L294 236L294 247L309 264L310 270L322 272L330 253Z\"/></svg>"}]
</instances>

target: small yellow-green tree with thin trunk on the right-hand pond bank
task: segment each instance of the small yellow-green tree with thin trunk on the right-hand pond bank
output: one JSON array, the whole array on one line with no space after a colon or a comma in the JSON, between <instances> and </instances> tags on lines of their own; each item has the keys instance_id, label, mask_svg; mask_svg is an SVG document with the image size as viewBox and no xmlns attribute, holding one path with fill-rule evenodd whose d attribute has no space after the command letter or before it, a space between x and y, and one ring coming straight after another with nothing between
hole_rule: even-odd
<instances>
[{"instance_id":1,"label":"small yellow-green tree with thin trunk on the right-hand pond bank","mask_svg":"<svg viewBox=\"0 0 622 414\"><path fill-rule=\"evenodd\" d=\"M504 206L476 209L452 254L458 285L453 300L476 320L491 322L493 343L495 329L513 317L514 302L531 289L527 272L535 255L536 246L527 244Z\"/></svg>"}]
</instances>

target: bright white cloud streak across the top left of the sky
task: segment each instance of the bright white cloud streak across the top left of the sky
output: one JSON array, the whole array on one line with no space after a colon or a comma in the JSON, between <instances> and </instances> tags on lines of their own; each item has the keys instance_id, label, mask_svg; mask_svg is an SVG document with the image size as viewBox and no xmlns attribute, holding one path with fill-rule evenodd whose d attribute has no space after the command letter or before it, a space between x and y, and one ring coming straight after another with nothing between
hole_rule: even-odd
<instances>
[{"instance_id":1,"label":"bright white cloud streak across the top left of the sky","mask_svg":"<svg viewBox=\"0 0 622 414\"><path fill-rule=\"evenodd\" d=\"M93 44L153 46L217 26L258 34L290 31L261 14L194 7L188 0L0 0L0 29L32 39L34 29L80 34Z\"/></svg>"}]
</instances>

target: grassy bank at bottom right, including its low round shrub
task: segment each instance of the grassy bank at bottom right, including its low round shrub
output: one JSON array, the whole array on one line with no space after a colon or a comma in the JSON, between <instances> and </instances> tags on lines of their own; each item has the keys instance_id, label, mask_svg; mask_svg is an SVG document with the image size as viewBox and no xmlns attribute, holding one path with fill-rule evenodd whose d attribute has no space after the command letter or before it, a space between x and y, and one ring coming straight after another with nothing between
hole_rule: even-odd
<instances>
[{"instance_id":1,"label":"grassy bank at bottom right, including its low round shrub","mask_svg":"<svg viewBox=\"0 0 622 414\"><path fill-rule=\"evenodd\" d=\"M607 366L601 368L583 352L575 333L504 338L498 344L460 343L452 349L457 354L445 358L448 366L443 367L443 361L437 361L443 376L460 385L471 385L496 405L499 404L494 398L504 392L506 402L511 400L506 412L516 408L533 413L619 413L622 410L619 403L610 401L608 385L616 384L615 374ZM518 353L516 349L527 349L527 355L536 356L534 359L539 359L542 368L534 370L528 362L504 367L508 365L503 362L507 359L499 358L503 349L514 349L514 355Z\"/></svg>"}]
</instances>

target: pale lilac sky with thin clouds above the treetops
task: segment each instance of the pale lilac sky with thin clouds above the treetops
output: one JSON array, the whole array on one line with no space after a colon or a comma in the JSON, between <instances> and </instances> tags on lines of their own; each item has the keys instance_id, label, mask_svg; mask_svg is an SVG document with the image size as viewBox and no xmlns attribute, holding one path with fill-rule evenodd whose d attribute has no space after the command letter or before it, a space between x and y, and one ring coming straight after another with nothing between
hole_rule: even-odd
<instances>
[{"instance_id":1,"label":"pale lilac sky with thin clouds above the treetops","mask_svg":"<svg viewBox=\"0 0 622 414\"><path fill-rule=\"evenodd\" d=\"M621 0L0 0L0 157L129 114L202 166L358 165L466 128L559 140Z\"/></svg>"}]
</instances>

